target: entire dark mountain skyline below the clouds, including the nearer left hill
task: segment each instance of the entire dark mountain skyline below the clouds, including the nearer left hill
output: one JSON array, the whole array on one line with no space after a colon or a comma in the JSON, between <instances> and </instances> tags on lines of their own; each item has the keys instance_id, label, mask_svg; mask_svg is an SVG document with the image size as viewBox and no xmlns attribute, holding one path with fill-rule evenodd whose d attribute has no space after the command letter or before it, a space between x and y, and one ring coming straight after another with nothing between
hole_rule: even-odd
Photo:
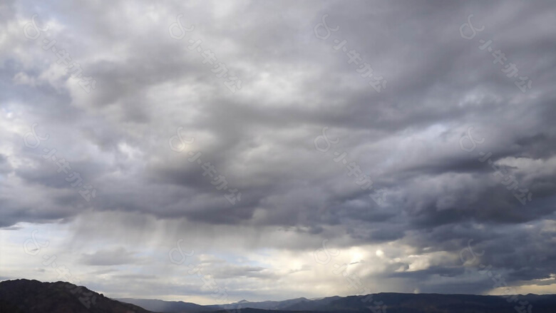
<instances>
[{"instance_id":1,"label":"entire dark mountain skyline below the clouds, including the nearer left hill","mask_svg":"<svg viewBox=\"0 0 556 313\"><path fill-rule=\"evenodd\" d=\"M512 297L388 292L351 297L297 298L264 302L242 300L233 304L200 305L158 299L109 299L103 294L68 282L38 282L28 279L0 282L1 313L225 313L226 309L237 309L238 306L241 313L374 313L369 306L374 307L376 313L556 312L556 294L517 295L512 303L508 302L508 299Z\"/></svg>"}]
</instances>

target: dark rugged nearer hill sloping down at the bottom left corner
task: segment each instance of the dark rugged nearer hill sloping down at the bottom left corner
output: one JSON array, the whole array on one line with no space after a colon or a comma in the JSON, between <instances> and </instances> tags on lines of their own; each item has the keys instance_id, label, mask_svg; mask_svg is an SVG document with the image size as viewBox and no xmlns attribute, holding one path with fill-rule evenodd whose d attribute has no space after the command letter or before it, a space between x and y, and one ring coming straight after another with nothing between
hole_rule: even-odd
<instances>
[{"instance_id":1,"label":"dark rugged nearer hill sloping down at the bottom left corner","mask_svg":"<svg viewBox=\"0 0 556 313\"><path fill-rule=\"evenodd\" d=\"M86 287L29 279L0 282L0 312L149 313L142 307L109 299Z\"/></svg>"}]
</instances>

